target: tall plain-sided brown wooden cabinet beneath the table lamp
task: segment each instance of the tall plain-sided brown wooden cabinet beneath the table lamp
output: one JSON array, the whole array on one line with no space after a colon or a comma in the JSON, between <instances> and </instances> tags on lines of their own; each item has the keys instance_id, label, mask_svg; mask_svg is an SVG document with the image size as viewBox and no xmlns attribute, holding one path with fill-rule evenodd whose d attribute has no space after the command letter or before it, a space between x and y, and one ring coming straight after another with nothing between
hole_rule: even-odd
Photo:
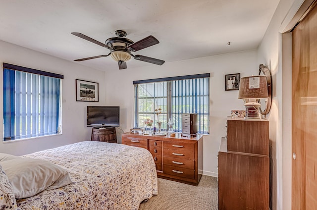
<instances>
[{"instance_id":1,"label":"tall plain-sided brown wooden cabinet beneath the table lamp","mask_svg":"<svg viewBox=\"0 0 317 210\"><path fill-rule=\"evenodd\" d=\"M269 209L268 121L227 119L218 153L219 210Z\"/></svg>"}]
</instances>

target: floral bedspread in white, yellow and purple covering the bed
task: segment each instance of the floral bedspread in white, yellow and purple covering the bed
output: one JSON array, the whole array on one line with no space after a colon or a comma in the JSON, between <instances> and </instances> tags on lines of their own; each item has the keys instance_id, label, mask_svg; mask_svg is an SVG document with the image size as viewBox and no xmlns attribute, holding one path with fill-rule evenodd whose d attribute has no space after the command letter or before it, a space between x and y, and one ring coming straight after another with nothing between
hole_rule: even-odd
<instances>
[{"instance_id":1,"label":"floral bedspread in white, yellow and purple covering the bed","mask_svg":"<svg viewBox=\"0 0 317 210\"><path fill-rule=\"evenodd\" d=\"M153 157L142 148L85 141L24 157L66 168L73 183L17 199L20 210L138 210L158 194Z\"/></svg>"}]
</instances>

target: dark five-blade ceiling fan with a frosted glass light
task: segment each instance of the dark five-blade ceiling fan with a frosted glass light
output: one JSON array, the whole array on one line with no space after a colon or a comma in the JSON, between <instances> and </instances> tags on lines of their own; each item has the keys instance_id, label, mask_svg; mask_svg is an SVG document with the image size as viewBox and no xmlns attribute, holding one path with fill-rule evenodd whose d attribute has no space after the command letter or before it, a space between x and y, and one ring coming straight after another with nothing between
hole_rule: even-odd
<instances>
[{"instance_id":1,"label":"dark five-blade ceiling fan with a frosted glass light","mask_svg":"<svg viewBox=\"0 0 317 210\"><path fill-rule=\"evenodd\" d=\"M89 60L89 59L94 59L99 57L106 57L110 55L115 61L118 62L119 69L127 68L126 61L130 60L131 56L134 57L134 59L136 60L154 63L157 65L162 65L165 62L164 60L156 59L153 57L147 57L147 56L139 55L139 54L133 55L131 53L131 52L136 52L144 48L150 47L152 45L159 44L159 40L157 40L154 36L151 36L151 35L138 42L133 42L132 40L125 38L127 35L125 31L116 30L115 35L117 37L112 37L107 39L106 44L104 44L90 37L87 37L86 35L81 33L72 32L71 34L110 50L108 54L76 59L74 61L83 61L83 60Z\"/></svg>"}]
</instances>

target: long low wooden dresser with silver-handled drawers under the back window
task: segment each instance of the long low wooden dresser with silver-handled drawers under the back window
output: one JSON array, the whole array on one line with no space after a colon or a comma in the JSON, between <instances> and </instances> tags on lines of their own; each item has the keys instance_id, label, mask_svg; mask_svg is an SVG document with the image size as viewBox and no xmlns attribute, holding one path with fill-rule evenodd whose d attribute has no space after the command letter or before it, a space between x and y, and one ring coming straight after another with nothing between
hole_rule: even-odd
<instances>
[{"instance_id":1,"label":"long low wooden dresser with silver-handled drawers under the back window","mask_svg":"<svg viewBox=\"0 0 317 210\"><path fill-rule=\"evenodd\" d=\"M156 163L158 177L198 185L203 173L203 136L185 138L122 134L122 144L150 151Z\"/></svg>"}]
</instances>

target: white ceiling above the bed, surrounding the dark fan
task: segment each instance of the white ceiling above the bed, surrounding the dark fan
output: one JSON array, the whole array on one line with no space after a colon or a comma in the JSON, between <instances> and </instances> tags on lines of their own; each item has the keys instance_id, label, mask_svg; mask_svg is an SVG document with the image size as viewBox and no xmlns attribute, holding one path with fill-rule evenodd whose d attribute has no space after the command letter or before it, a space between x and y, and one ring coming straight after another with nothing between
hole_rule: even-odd
<instances>
[{"instance_id":1,"label":"white ceiling above the bed, surrounding the dark fan","mask_svg":"<svg viewBox=\"0 0 317 210\"><path fill-rule=\"evenodd\" d=\"M149 35L159 40L134 54L173 62L256 49L278 1L1 0L0 40L76 62L109 50L71 32L105 43L120 29L134 42ZM77 63L118 69L110 56ZM155 64L127 61L127 69L145 65Z\"/></svg>"}]
</instances>

